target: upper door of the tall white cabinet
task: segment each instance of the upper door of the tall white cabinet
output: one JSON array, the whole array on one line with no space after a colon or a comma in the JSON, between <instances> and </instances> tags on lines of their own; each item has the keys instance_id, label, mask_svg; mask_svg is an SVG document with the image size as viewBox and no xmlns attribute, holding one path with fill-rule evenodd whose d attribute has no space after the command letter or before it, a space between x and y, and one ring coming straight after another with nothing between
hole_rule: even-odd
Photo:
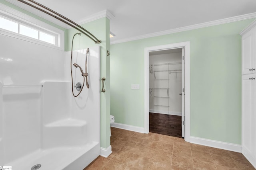
<instances>
[{"instance_id":1,"label":"upper door of the tall white cabinet","mask_svg":"<svg viewBox=\"0 0 256 170\"><path fill-rule=\"evenodd\" d=\"M254 30L250 30L242 37L242 74L255 73L255 47L254 47Z\"/></svg>"}]
</instances>

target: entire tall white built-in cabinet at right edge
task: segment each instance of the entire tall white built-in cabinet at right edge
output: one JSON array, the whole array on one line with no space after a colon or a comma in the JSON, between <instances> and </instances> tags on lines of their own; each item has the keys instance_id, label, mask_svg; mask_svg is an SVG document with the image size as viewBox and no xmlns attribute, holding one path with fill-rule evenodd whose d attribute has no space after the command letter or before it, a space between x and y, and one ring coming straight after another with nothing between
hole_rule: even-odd
<instances>
[{"instance_id":1,"label":"entire tall white built-in cabinet at right edge","mask_svg":"<svg viewBox=\"0 0 256 170\"><path fill-rule=\"evenodd\" d=\"M242 154L256 168L256 21L242 35Z\"/></svg>"}]
</instances>

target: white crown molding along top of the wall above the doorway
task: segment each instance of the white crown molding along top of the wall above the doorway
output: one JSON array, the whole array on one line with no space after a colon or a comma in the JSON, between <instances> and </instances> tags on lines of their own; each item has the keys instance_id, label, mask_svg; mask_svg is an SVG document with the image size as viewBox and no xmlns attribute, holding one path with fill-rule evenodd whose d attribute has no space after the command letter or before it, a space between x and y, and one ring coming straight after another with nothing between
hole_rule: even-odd
<instances>
[{"instance_id":1,"label":"white crown molding along top of the wall above the doorway","mask_svg":"<svg viewBox=\"0 0 256 170\"><path fill-rule=\"evenodd\" d=\"M115 41L111 41L111 39L110 39L110 44L117 44L117 43L124 43L124 42L128 42L128 41L135 41L135 40L144 39L144 38L150 38L150 37L156 37L156 36L160 36L160 35L167 35L167 34L172 34L172 33L189 31L189 30L192 30L192 29L210 27L210 26L214 26L214 25L220 25L220 24L224 24L224 23L230 23L230 22L241 21L241 20L247 20L247 19L251 19L251 18L256 18L256 12L241 15L241 16L224 18L224 19L221 19L221 20L199 23L199 24L190 25L190 26L186 26L186 27L169 29L169 30L166 30L166 31L160 31L160 32L149 33L149 34L145 34L145 35L139 35L139 36L130 37L130 38L126 38L126 39L120 39L120 40L115 40Z\"/></svg>"}]
</instances>

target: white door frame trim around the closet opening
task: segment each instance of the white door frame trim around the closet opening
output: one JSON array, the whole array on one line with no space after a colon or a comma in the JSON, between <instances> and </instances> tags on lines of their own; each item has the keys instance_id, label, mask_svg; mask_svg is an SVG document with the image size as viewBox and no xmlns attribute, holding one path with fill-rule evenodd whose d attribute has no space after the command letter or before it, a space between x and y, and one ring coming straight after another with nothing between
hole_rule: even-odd
<instances>
[{"instance_id":1,"label":"white door frame trim around the closet opening","mask_svg":"<svg viewBox=\"0 0 256 170\"><path fill-rule=\"evenodd\" d=\"M190 42L174 43L155 47L146 47L144 49L144 132L149 133L149 56L151 52L165 51L171 49L184 49L184 87L182 88L182 114L181 120L183 126L183 135L185 141L190 142ZM166 90L167 91L167 90ZM169 112L167 112L169 113Z\"/></svg>"}]
</instances>

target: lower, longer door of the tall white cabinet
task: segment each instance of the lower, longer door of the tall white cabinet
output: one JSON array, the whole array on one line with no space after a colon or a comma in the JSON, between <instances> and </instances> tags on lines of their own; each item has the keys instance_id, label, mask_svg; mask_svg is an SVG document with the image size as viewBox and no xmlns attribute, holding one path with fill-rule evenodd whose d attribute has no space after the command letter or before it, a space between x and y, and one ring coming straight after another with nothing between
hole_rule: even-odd
<instances>
[{"instance_id":1,"label":"lower, longer door of the tall white cabinet","mask_svg":"<svg viewBox=\"0 0 256 170\"><path fill-rule=\"evenodd\" d=\"M242 153L248 160L255 156L256 74L242 76Z\"/></svg>"}]
</instances>

